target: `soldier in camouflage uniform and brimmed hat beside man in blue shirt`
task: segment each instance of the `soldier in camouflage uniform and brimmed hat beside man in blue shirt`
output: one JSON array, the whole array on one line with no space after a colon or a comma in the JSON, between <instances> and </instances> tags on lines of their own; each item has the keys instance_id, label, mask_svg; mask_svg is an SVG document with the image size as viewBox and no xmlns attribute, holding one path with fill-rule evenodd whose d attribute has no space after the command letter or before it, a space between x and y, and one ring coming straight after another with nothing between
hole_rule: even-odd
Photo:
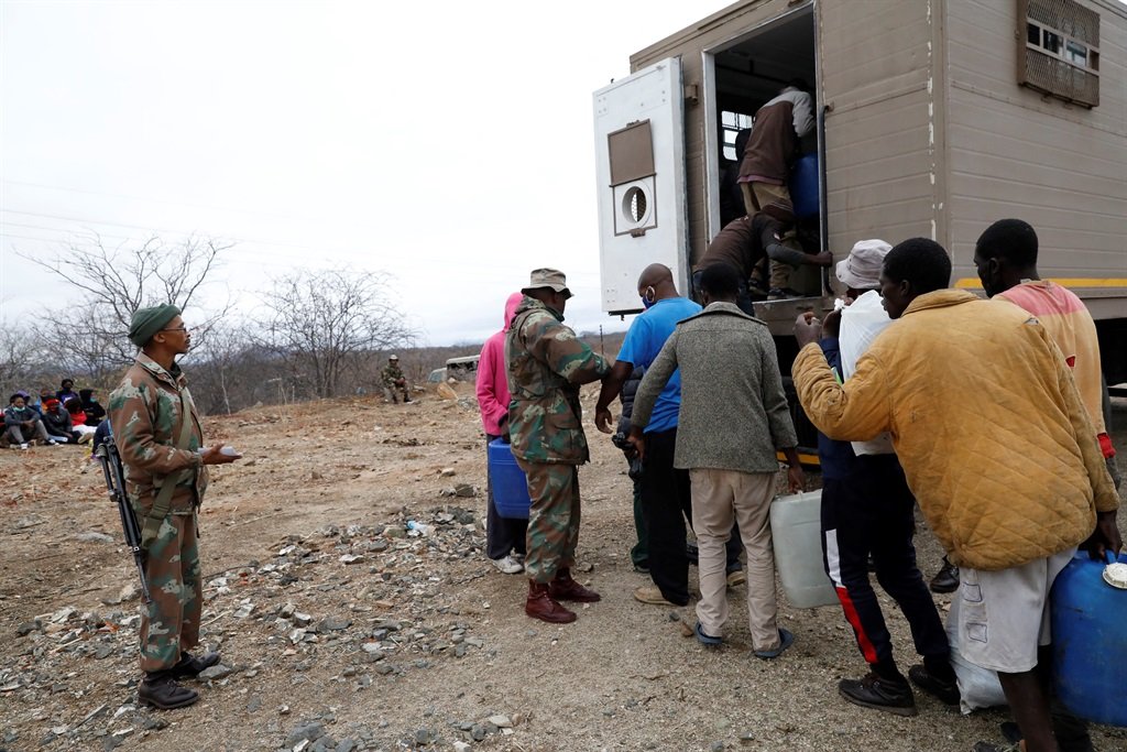
<instances>
[{"instance_id":1,"label":"soldier in camouflage uniform and brimmed hat beside man in blue shirt","mask_svg":"<svg viewBox=\"0 0 1127 752\"><path fill-rule=\"evenodd\" d=\"M558 601L592 603L598 593L571 578L579 540L579 471L591 459L583 433L579 386L610 372L606 361L564 326L571 297L562 272L535 269L521 292L505 340L513 454L529 478L529 598L524 612L554 623L575 621Z\"/></svg>"}]
</instances>

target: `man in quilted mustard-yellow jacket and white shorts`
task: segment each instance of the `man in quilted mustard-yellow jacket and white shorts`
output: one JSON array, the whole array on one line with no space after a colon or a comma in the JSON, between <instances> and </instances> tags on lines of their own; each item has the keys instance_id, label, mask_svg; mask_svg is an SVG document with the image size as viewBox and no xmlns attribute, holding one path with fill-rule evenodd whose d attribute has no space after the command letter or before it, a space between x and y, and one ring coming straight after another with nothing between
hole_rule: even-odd
<instances>
[{"instance_id":1,"label":"man in quilted mustard-yellow jacket and white shorts","mask_svg":"<svg viewBox=\"0 0 1127 752\"><path fill-rule=\"evenodd\" d=\"M1055 752L1040 649L1050 638L1048 593L1077 546L1121 548L1119 499L1044 327L1009 303L947 289L950 276L939 244L899 244L885 258L880 292L900 320L844 384L807 345L795 387L832 439L891 434L921 510L961 567L966 657L999 672L1026 750Z\"/></svg>"}]
</instances>

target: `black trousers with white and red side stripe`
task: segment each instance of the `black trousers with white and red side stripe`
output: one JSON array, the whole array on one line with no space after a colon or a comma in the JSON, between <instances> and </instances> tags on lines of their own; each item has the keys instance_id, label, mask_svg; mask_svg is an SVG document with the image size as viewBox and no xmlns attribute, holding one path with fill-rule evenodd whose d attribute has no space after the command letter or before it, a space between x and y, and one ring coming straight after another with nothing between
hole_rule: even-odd
<instances>
[{"instance_id":1,"label":"black trousers with white and red side stripe","mask_svg":"<svg viewBox=\"0 0 1127 752\"><path fill-rule=\"evenodd\" d=\"M822 552L861 655L887 664L893 644L877 594L869 584L869 555L877 582L900 607L916 653L947 658L950 647L935 603L916 567L915 498L895 454L862 454L844 480L822 487Z\"/></svg>"}]
</instances>

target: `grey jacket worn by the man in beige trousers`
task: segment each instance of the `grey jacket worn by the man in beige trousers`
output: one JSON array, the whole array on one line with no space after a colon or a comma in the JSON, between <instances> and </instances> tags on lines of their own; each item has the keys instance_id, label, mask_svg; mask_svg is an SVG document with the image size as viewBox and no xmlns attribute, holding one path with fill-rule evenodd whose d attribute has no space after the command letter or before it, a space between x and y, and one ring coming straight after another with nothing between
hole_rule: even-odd
<instances>
[{"instance_id":1,"label":"grey jacket worn by the man in beige trousers","mask_svg":"<svg viewBox=\"0 0 1127 752\"><path fill-rule=\"evenodd\" d=\"M766 325L734 303L712 303L677 324L638 387L635 426L649 423L662 387L678 368L674 466L777 471L775 451L798 445L798 439Z\"/></svg>"}]
</instances>

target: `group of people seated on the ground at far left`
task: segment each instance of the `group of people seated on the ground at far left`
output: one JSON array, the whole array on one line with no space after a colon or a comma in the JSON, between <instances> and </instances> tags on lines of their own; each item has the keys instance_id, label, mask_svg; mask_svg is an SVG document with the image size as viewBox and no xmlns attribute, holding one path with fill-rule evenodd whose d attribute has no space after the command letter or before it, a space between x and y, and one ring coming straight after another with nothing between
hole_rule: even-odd
<instances>
[{"instance_id":1,"label":"group of people seated on the ground at far left","mask_svg":"<svg viewBox=\"0 0 1127 752\"><path fill-rule=\"evenodd\" d=\"M57 391L39 390L38 398L19 390L8 398L3 412L3 436L11 446L85 444L94 439L106 417L94 389L74 391L74 381L63 379Z\"/></svg>"}]
</instances>

